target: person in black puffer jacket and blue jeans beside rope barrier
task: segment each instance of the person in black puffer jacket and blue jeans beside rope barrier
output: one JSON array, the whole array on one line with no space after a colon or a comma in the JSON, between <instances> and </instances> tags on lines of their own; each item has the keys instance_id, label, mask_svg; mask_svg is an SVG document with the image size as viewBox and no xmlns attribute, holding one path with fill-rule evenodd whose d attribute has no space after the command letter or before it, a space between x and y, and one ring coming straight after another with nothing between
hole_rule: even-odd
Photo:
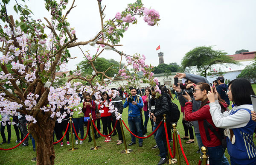
<instances>
[{"instance_id":1,"label":"person in black puffer jacket and blue jeans beside rope barrier","mask_svg":"<svg viewBox=\"0 0 256 165\"><path fill-rule=\"evenodd\" d=\"M163 115L168 114L170 109L170 102L171 98L167 94L166 87L162 87L161 89L161 96L157 99L155 99L155 109L151 109L151 117L153 117L154 122L156 123L156 126L158 126L163 120ZM158 128L157 133L155 135L155 140L157 143L157 146L160 151L160 161L158 162L158 165L162 165L167 161L168 156L168 148L166 143L166 134L164 129L164 123L161 124L161 126Z\"/></svg>"}]
</instances>

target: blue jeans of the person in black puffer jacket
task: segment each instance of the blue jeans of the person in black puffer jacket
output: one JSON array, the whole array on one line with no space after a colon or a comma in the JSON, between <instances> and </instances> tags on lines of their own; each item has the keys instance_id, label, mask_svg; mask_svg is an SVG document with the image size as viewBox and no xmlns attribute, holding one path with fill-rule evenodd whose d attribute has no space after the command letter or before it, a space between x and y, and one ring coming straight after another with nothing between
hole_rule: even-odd
<instances>
[{"instance_id":1,"label":"blue jeans of the person in black puffer jacket","mask_svg":"<svg viewBox=\"0 0 256 165\"><path fill-rule=\"evenodd\" d=\"M166 143L166 133L165 133L163 123L157 129L157 134L155 136L155 140L156 140L159 152L160 152L160 157L165 158L166 155L168 155L168 151L167 151L167 143Z\"/></svg>"}]
</instances>

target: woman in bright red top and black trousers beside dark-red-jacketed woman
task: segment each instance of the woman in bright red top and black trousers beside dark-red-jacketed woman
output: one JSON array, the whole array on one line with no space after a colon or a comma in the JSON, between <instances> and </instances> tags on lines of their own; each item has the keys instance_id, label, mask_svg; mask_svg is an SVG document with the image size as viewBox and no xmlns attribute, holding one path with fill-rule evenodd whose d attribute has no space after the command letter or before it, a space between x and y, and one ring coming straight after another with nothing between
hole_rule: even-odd
<instances>
[{"instance_id":1,"label":"woman in bright red top and black trousers beside dark-red-jacketed woman","mask_svg":"<svg viewBox=\"0 0 256 165\"><path fill-rule=\"evenodd\" d=\"M111 113L108 112L110 109L108 107L106 107L106 105L108 105L108 103L111 102L111 99L109 99L109 95L107 92L102 92L102 101L101 104L99 104L99 112L102 112L100 114L101 119L102 119L102 125L103 125L103 134L108 135L112 132L112 128L111 128ZM112 140L111 138L111 134L105 138L104 142L110 142Z\"/></svg>"}]
</instances>

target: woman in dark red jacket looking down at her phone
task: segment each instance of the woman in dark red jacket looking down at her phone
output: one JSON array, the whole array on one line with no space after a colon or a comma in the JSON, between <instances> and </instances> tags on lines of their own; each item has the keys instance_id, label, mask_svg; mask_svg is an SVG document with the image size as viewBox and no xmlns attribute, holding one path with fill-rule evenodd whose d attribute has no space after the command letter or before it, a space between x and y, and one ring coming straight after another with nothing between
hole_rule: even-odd
<instances>
[{"instance_id":1,"label":"woman in dark red jacket looking down at her phone","mask_svg":"<svg viewBox=\"0 0 256 165\"><path fill-rule=\"evenodd\" d=\"M85 93L85 100L83 105L84 106L83 106L82 112L84 113L84 117L90 117L89 114L91 113L93 120L96 121L96 114L95 114L96 103L90 98L89 93ZM88 122L84 122L84 126L87 126ZM94 130L94 137L95 139L97 139L97 134L96 134L97 132L94 127L93 127L93 130ZM88 130L88 137L89 137L88 142L91 142L92 137L90 135L90 129Z\"/></svg>"}]
</instances>

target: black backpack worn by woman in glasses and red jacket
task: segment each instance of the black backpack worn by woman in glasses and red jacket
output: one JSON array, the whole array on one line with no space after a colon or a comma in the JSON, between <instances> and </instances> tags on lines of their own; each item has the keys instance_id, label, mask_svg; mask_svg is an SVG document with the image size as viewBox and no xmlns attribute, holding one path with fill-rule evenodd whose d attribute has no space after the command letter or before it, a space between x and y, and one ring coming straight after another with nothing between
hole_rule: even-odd
<instances>
[{"instance_id":1,"label":"black backpack worn by woman in glasses and red jacket","mask_svg":"<svg viewBox=\"0 0 256 165\"><path fill-rule=\"evenodd\" d=\"M209 104L205 104L205 105L209 105ZM225 112L225 111L229 111L229 109L224 109L221 107L221 113ZM227 140L226 140L226 136L224 135L224 130L225 129L222 129L222 128L218 128L219 131L217 132L213 126L206 120L204 119L204 130L205 130L205 134L206 134L206 137L207 137L207 140L210 141L211 140L211 137L209 135L209 131L208 131L208 128L215 134L215 136L218 138L218 140L221 141L221 145L222 147L225 149L227 148Z\"/></svg>"}]
</instances>

